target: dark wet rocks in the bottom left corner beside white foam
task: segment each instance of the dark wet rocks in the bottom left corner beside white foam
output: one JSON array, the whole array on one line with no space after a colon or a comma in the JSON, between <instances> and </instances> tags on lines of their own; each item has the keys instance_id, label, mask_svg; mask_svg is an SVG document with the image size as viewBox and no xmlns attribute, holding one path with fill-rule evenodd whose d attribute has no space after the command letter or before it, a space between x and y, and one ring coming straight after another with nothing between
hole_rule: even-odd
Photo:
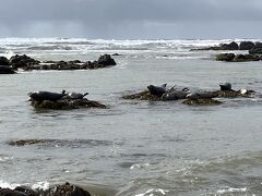
<instances>
[{"instance_id":1,"label":"dark wet rocks in the bottom left corner beside white foam","mask_svg":"<svg viewBox=\"0 0 262 196\"><path fill-rule=\"evenodd\" d=\"M0 195L2 196L91 196L91 193L82 187L64 183L55 185L47 191L32 189L27 186L17 186L14 189L1 188Z\"/></svg>"}]
</instances>

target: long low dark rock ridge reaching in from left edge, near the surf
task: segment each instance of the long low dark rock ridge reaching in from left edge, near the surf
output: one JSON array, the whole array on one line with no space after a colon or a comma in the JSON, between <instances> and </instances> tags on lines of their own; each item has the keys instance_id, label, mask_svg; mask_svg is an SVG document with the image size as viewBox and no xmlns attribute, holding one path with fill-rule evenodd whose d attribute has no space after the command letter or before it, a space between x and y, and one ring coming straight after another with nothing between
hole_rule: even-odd
<instances>
[{"instance_id":1,"label":"long low dark rock ridge reaching in from left edge, near the surf","mask_svg":"<svg viewBox=\"0 0 262 196\"><path fill-rule=\"evenodd\" d=\"M94 70L103 69L108 66L116 65L116 61L111 58L110 54L104 54L98 58L96 61L86 61L81 62L80 60L74 61L38 61L26 54L23 56L13 56L10 59L5 57L0 57L0 66L12 70L13 72L17 69L24 71L32 70ZM0 73L1 69L0 68Z\"/></svg>"}]
</instances>

